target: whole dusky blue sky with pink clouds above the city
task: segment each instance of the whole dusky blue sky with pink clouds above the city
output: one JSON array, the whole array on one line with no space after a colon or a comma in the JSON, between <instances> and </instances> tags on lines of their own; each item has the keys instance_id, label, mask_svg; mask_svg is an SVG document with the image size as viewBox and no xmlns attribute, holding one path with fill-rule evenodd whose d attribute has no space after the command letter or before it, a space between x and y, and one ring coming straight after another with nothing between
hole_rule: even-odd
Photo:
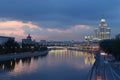
<instances>
[{"instance_id":1,"label":"whole dusky blue sky with pink clouds above the city","mask_svg":"<svg viewBox=\"0 0 120 80\"><path fill-rule=\"evenodd\" d=\"M0 36L82 41L103 16L114 38L120 33L120 0L0 0Z\"/></svg>"}]
</instances>

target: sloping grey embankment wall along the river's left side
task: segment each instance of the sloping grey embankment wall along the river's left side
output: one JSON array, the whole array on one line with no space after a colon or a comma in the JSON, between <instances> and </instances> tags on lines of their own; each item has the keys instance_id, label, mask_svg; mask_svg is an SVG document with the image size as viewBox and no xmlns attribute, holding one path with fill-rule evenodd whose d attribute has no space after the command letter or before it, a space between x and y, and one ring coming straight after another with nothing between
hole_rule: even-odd
<instances>
[{"instance_id":1,"label":"sloping grey embankment wall along the river's left side","mask_svg":"<svg viewBox=\"0 0 120 80\"><path fill-rule=\"evenodd\" d=\"M33 56L43 56L48 54L47 51L42 52L26 52L26 53L18 53L18 54L7 54L7 55L0 55L0 61L7 61L11 59L19 59L19 58L26 58L26 57L33 57Z\"/></svg>"}]
</instances>

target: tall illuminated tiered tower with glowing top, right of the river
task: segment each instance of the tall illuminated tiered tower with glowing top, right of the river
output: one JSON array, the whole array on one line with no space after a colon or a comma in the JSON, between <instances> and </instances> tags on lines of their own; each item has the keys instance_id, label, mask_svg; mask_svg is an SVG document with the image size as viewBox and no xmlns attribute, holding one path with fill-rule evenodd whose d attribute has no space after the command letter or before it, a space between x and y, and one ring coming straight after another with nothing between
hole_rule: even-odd
<instances>
[{"instance_id":1,"label":"tall illuminated tiered tower with glowing top, right of the river","mask_svg":"<svg viewBox=\"0 0 120 80\"><path fill-rule=\"evenodd\" d=\"M107 27L106 20L104 18L101 19L99 28L94 30L94 40L105 40L110 39L111 29Z\"/></svg>"}]
</instances>

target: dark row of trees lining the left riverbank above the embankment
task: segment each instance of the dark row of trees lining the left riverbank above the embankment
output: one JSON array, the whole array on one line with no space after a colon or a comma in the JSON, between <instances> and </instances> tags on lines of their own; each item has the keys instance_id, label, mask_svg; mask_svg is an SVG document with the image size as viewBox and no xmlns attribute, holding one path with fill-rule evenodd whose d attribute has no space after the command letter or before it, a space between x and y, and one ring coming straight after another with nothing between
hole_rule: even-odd
<instances>
[{"instance_id":1,"label":"dark row of trees lining the left riverbank above the embankment","mask_svg":"<svg viewBox=\"0 0 120 80\"><path fill-rule=\"evenodd\" d=\"M13 54L20 52L34 52L34 51L45 51L47 46L41 46L38 43L25 44L22 43L22 47L14 41L14 39L8 39L3 45L0 45L0 54Z\"/></svg>"}]
</instances>

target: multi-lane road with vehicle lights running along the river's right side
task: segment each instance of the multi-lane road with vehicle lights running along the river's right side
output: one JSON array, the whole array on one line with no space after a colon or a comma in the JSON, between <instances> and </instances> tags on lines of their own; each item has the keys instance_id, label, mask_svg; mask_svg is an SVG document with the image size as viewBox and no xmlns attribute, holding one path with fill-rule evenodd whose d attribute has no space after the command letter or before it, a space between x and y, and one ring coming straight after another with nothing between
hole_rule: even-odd
<instances>
[{"instance_id":1,"label":"multi-lane road with vehicle lights running along the river's right side","mask_svg":"<svg viewBox=\"0 0 120 80\"><path fill-rule=\"evenodd\" d=\"M114 67L113 62L109 62L108 55L96 53L96 62L91 70L88 80L120 80L120 68Z\"/></svg>"}]
</instances>

